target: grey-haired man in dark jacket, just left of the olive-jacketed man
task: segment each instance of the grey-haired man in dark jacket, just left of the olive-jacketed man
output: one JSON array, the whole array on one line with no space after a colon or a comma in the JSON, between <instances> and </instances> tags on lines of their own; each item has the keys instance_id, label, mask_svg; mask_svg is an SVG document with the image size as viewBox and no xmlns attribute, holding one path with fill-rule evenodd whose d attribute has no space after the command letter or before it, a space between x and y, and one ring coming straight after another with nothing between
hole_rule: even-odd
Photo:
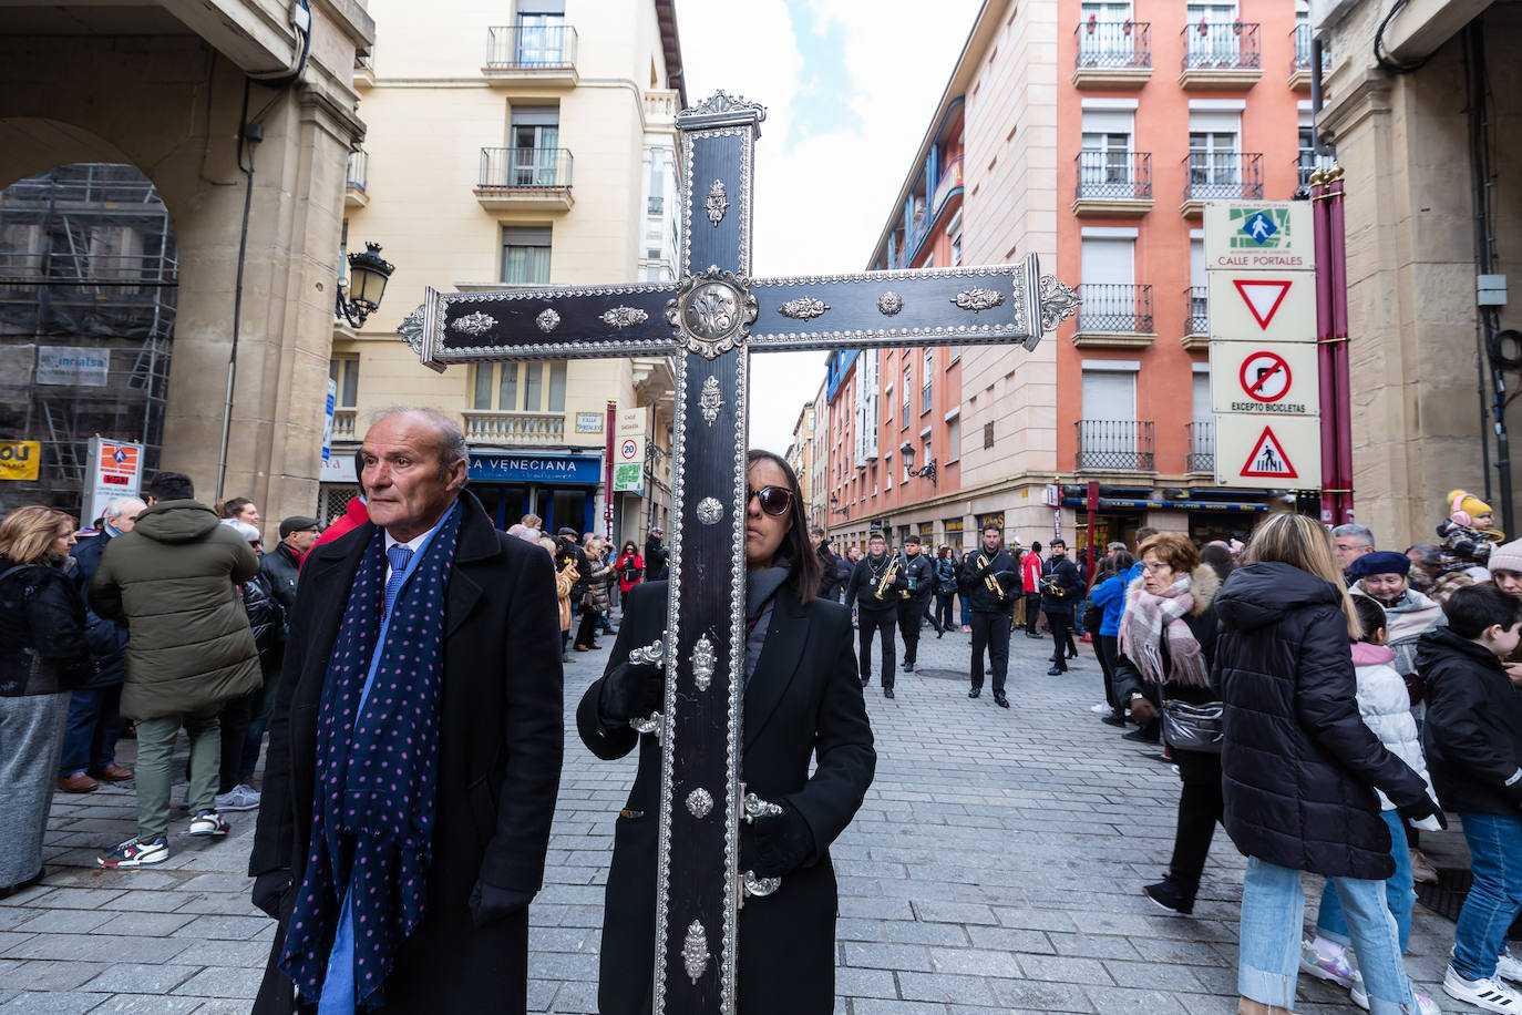
<instances>
[{"instance_id":1,"label":"grey-haired man in dark jacket, just left of the olive-jacketed man","mask_svg":"<svg viewBox=\"0 0 1522 1015\"><path fill-rule=\"evenodd\" d=\"M70 551L78 562L73 580L81 598L100 568L105 545L122 533L131 533L146 507L137 498L111 501L94 539L87 539ZM85 610L85 618L90 621L87 639L90 653L96 657L96 676L68 697L64 753L58 764L58 788L64 793L90 793L100 782L125 782L132 778L129 768L116 764L116 738L122 727L122 682L126 679L126 627L97 616L90 609Z\"/></svg>"}]
</instances>

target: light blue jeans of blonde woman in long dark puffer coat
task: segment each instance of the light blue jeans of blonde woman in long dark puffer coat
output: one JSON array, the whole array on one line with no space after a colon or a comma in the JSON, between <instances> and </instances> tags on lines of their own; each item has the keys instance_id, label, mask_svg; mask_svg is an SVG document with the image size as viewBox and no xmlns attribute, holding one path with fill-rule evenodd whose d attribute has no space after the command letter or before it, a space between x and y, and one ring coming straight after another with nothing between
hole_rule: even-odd
<instances>
[{"instance_id":1,"label":"light blue jeans of blonde woman in long dark puffer coat","mask_svg":"<svg viewBox=\"0 0 1522 1015\"><path fill-rule=\"evenodd\" d=\"M1260 1004L1294 1009L1300 974L1300 930L1306 915L1301 873L1248 857L1242 880L1242 931L1237 992ZM1400 963L1396 919L1385 908L1385 886L1359 878L1329 878L1342 901L1358 968L1373 1015L1417 1010ZM1495 963L1495 950L1490 953Z\"/></svg>"}]
</instances>

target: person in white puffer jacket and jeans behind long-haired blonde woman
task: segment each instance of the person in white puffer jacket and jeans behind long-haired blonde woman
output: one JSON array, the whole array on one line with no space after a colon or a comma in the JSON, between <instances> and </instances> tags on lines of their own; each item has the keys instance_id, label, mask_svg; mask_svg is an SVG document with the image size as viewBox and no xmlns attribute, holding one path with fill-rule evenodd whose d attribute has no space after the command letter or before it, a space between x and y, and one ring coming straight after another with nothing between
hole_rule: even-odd
<instances>
[{"instance_id":1,"label":"person in white puffer jacket and jeans behind long-haired blonde woman","mask_svg":"<svg viewBox=\"0 0 1522 1015\"><path fill-rule=\"evenodd\" d=\"M1374 554L1365 554L1373 557ZM1362 557L1359 558L1362 560ZM1356 563L1356 562L1355 562ZM1355 595L1353 606L1358 609L1358 619L1364 625L1362 641L1353 642L1353 667L1358 674L1358 711L1364 717L1364 724L1374 730L1379 743L1390 753L1396 755L1411 770L1426 782L1428 793L1434 793L1432 779L1428 775L1426 758L1422 755L1422 737L1417 730L1415 718L1411 715L1406 682L1396 667L1396 653L1385 645L1385 630L1388 621L1385 610L1373 598ZM1400 951L1405 953L1411 942L1411 907L1417 893L1411 880L1411 854L1406 849L1406 829L1396 805L1383 793L1379 794L1379 816L1390 826L1390 857L1396 861L1396 872L1385 880L1385 904L1390 915L1396 918L1396 930L1400 934ZM1437 831L1437 819L1428 817L1415 823L1426 831ZM1321 890L1321 905L1317 912L1317 939L1304 945L1300 956L1300 968L1321 980L1330 980L1352 989L1355 1003L1364 995L1362 977L1356 972L1358 965L1350 951L1352 940L1347 936L1347 921L1342 918L1342 904L1329 883ZM1419 1003L1423 1000L1417 995ZM1431 1001L1426 1001L1431 1004Z\"/></svg>"}]
</instances>

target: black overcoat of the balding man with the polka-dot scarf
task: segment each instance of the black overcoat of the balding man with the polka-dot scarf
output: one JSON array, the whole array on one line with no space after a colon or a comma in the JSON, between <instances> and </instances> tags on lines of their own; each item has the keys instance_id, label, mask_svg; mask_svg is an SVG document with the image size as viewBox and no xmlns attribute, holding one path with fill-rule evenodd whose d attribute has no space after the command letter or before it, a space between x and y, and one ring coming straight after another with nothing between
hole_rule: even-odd
<instances>
[{"instance_id":1,"label":"black overcoat of the balding man with the polka-dot scarf","mask_svg":"<svg viewBox=\"0 0 1522 1015\"><path fill-rule=\"evenodd\" d=\"M476 878L525 895L539 890L560 787L563 673L549 554L499 533L470 493L461 501L444 603L426 915L387 977L387 1015L527 1009L528 912L476 928L469 896ZM251 875L291 870L300 884L306 867L327 657L374 531L367 522L317 546L301 568L269 724ZM294 899L286 892L254 1015L303 1010L291 980L275 968Z\"/></svg>"}]
</instances>

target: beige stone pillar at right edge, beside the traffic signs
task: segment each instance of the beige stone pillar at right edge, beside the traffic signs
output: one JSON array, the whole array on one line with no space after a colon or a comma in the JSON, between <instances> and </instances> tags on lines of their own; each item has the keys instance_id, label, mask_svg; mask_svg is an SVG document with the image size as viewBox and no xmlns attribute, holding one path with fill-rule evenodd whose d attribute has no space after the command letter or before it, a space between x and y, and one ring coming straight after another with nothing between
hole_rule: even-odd
<instances>
[{"instance_id":1,"label":"beige stone pillar at right edge, beside the traffic signs","mask_svg":"<svg viewBox=\"0 0 1522 1015\"><path fill-rule=\"evenodd\" d=\"M1502 527L1496 382L1522 380L1502 335L1522 327L1522 8L1317 0L1312 17L1333 55L1317 128L1345 172L1358 520L1380 548L1432 542L1464 488Z\"/></svg>"}]
</instances>

